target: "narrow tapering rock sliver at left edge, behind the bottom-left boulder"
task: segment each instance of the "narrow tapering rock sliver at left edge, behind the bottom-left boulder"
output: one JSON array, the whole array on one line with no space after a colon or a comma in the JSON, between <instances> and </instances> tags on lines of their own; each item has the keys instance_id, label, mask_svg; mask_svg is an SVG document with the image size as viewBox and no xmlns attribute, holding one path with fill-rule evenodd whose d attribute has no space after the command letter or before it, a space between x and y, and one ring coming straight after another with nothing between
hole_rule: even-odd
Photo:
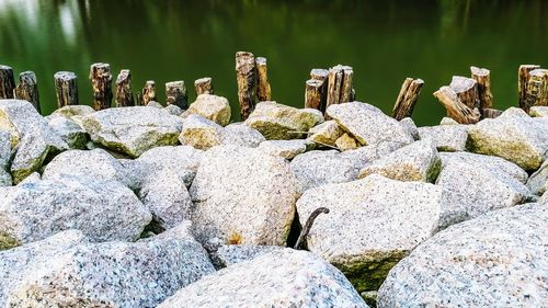
<instances>
[{"instance_id":1,"label":"narrow tapering rock sliver at left edge, behind the bottom-left boulder","mask_svg":"<svg viewBox=\"0 0 548 308\"><path fill-rule=\"evenodd\" d=\"M24 277L52 261L57 254L87 241L82 232L68 230L37 242L0 251L0 307L7 307L8 296Z\"/></svg>"}]
</instances>

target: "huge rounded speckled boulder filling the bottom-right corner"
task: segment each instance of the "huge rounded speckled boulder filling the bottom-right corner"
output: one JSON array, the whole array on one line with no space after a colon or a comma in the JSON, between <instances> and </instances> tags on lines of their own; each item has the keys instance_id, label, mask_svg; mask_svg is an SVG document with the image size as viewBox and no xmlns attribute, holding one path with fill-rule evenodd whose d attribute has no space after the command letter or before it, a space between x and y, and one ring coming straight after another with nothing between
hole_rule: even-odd
<instances>
[{"instance_id":1,"label":"huge rounded speckled boulder filling the bottom-right corner","mask_svg":"<svg viewBox=\"0 0 548 308\"><path fill-rule=\"evenodd\" d=\"M548 207L483 215L435 235L390 271L377 307L544 307Z\"/></svg>"}]
</instances>

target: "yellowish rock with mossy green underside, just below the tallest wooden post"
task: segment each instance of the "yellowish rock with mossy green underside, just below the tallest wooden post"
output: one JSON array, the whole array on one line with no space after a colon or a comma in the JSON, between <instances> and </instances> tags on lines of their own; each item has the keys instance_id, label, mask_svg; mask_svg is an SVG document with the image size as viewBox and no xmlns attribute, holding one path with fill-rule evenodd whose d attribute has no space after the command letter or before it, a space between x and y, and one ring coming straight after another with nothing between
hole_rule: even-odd
<instances>
[{"instance_id":1,"label":"yellowish rock with mossy green underside, just below the tallest wooden post","mask_svg":"<svg viewBox=\"0 0 548 308\"><path fill-rule=\"evenodd\" d=\"M246 124L259 130L267 140L287 140L301 138L304 133L322 122L323 116L318 111L260 102Z\"/></svg>"}]
</instances>

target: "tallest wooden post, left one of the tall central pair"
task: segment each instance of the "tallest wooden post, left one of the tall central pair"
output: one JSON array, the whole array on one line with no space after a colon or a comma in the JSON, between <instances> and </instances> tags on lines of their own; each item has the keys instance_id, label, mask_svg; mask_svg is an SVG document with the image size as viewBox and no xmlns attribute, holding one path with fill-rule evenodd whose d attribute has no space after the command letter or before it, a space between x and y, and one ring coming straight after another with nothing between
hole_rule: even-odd
<instances>
[{"instance_id":1,"label":"tallest wooden post, left one of the tall central pair","mask_svg":"<svg viewBox=\"0 0 548 308\"><path fill-rule=\"evenodd\" d=\"M236 79L238 81L240 116L242 121L246 121L255 109L256 103L256 67L253 54L236 53Z\"/></svg>"}]
</instances>

